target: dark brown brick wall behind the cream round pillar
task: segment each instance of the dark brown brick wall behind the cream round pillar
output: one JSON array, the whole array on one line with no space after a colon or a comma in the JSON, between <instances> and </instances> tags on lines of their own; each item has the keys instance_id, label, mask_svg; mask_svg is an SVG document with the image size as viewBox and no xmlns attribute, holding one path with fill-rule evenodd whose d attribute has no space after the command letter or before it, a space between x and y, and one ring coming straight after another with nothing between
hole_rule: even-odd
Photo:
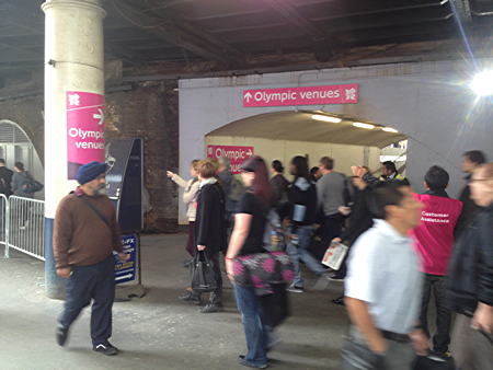
<instances>
[{"instance_id":1,"label":"dark brown brick wall behind the cream round pillar","mask_svg":"<svg viewBox=\"0 0 493 370\"><path fill-rule=\"evenodd\" d=\"M144 140L145 185L152 210L148 232L177 230L177 189L165 176L179 164L179 102L175 81L146 82L106 95L106 137ZM44 161L43 95L0 102L0 119L21 126Z\"/></svg>"}]
</instances>

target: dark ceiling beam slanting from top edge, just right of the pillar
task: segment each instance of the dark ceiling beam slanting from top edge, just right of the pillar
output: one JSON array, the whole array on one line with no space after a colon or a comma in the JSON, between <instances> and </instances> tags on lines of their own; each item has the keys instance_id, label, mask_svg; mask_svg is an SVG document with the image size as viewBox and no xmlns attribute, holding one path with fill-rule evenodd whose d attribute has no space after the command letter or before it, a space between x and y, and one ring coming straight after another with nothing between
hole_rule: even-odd
<instances>
[{"instance_id":1,"label":"dark ceiling beam slanting from top edge, just right of the pillar","mask_svg":"<svg viewBox=\"0 0 493 370\"><path fill-rule=\"evenodd\" d=\"M167 43L180 46L207 60L215 60L223 65L238 60L239 51L229 45L207 34L203 30L173 18L173 23L153 14L147 14L141 9L125 1L111 1L115 10L136 26L142 27Z\"/></svg>"}]
</instances>

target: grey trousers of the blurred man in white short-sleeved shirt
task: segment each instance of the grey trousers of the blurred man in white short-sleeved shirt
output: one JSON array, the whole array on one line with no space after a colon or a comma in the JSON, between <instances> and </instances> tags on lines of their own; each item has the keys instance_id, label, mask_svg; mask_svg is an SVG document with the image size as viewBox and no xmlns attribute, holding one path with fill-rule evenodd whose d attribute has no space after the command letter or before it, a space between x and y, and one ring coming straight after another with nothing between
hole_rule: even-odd
<instances>
[{"instance_id":1,"label":"grey trousers of the blurred man in white short-sleeved shirt","mask_svg":"<svg viewBox=\"0 0 493 370\"><path fill-rule=\"evenodd\" d=\"M354 351L353 346L346 346L343 349L342 370L381 370L372 363L376 355L355 326L349 329L348 344L351 343L364 350ZM410 343L387 340L387 355L383 358L386 370L410 370L414 358L415 354Z\"/></svg>"}]
</instances>

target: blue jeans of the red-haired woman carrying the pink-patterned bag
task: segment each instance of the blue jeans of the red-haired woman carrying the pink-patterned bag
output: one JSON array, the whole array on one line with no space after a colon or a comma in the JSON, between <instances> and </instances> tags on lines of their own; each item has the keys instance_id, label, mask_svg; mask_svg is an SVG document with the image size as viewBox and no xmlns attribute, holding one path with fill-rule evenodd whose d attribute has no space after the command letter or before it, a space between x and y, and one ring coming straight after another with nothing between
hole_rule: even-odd
<instances>
[{"instance_id":1,"label":"blue jeans of the red-haired woman carrying the pink-patterned bag","mask_svg":"<svg viewBox=\"0 0 493 370\"><path fill-rule=\"evenodd\" d=\"M262 319L262 309L255 289L234 285L234 296L246 337L245 360L256 366L266 365L268 329Z\"/></svg>"}]
</instances>

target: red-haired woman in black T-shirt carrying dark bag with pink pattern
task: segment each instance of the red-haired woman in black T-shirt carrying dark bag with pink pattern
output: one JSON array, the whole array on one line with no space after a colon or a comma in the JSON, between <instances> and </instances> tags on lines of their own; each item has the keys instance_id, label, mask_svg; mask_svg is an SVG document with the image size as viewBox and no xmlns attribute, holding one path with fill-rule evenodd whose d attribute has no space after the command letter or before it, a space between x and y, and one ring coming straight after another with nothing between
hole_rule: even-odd
<instances>
[{"instance_id":1,"label":"red-haired woman in black T-shirt carrying dark bag with pink pattern","mask_svg":"<svg viewBox=\"0 0 493 370\"><path fill-rule=\"evenodd\" d=\"M272 327L279 323L278 320L275 323L271 319L270 308L275 307L275 311L279 308L284 311L287 309L283 266L286 273L290 264L283 265L275 254L266 253L264 247L273 194L265 161L260 157L250 158L242 165L241 176L248 190L243 194L236 215L226 254L226 270L234 287L246 338L248 352L240 356L239 362L245 367L265 369L268 367L267 351L273 344ZM285 259L288 262L288 258ZM241 276L245 278L241 279ZM265 300L270 304L264 305Z\"/></svg>"}]
</instances>

